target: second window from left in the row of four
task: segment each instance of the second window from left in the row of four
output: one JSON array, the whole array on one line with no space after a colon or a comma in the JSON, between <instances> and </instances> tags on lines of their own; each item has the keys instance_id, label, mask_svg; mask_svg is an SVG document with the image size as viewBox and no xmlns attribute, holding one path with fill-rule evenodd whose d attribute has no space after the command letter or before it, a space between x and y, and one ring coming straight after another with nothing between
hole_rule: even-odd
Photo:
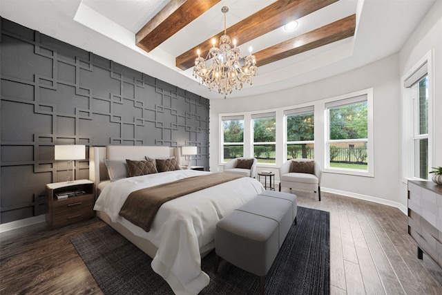
<instances>
[{"instance_id":1,"label":"second window from left in the row of four","mask_svg":"<svg viewBox=\"0 0 442 295\"><path fill-rule=\"evenodd\" d=\"M251 116L253 124L253 155L258 163L276 163L275 113Z\"/></svg>"}]
</instances>

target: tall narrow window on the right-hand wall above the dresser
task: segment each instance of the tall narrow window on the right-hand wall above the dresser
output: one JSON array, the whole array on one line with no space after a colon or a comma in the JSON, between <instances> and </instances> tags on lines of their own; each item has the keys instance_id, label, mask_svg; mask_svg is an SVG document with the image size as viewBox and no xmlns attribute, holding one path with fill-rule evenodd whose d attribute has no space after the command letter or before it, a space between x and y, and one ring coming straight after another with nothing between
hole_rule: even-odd
<instances>
[{"instance_id":1,"label":"tall narrow window on the right-hand wall above the dresser","mask_svg":"<svg viewBox=\"0 0 442 295\"><path fill-rule=\"evenodd\" d=\"M413 176L419 179L428 179L429 171L429 126L428 126L428 71L427 62L419 66L417 70L404 81L405 89L405 108L408 106L410 112L404 114L407 120L412 122L409 130L404 132L405 137L408 137L412 146L405 146L405 152L412 155L412 163L404 163L405 171L409 166L410 173L405 175ZM408 135L408 136L407 136ZM410 162L410 160L408 160Z\"/></svg>"}]
</instances>

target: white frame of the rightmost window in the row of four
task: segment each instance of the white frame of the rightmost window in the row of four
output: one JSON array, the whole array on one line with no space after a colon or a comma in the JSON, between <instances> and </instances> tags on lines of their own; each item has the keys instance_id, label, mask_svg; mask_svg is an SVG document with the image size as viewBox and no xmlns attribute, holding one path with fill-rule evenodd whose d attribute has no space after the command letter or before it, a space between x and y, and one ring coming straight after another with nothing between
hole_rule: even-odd
<instances>
[{"instance_id":1,"label":"white frame of the rightmost window in the row of four","mask_svg":"<svg viewBox=\"0 0 442 295\"><path fill-rule=\"evenodd\" d=\"M340 101L351 100L355 97L366 96L367 100L367 139L352 139L352 140L330 140L330 124L329 124L329 106L344 106L345 103ZM365 100L365 99L364 99ZM368 88L363 91L348 93L338 97L332 97L325 100L324 104L324 131L325 131L325 153L324 153L324 168L323 171L328 173L339 173L347 175L359 175L366 177L374 177L374 134L373 134L373 88ZM330 163L330 143L333 142L367 142L367 170L360 169L345 169L331 167Z\"/></svg>"}]
</instances>

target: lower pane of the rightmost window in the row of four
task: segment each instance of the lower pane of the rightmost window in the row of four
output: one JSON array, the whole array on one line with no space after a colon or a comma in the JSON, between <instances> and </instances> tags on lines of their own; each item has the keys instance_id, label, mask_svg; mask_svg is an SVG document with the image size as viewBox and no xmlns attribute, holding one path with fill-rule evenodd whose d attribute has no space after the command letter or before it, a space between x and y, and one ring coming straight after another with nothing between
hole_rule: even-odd
<instances>
[{"instance_id":1,"label":"lower pane of the rightmost window in the row of four","mask_svg":"<svg viewBox=\"0 0 442 295\"><path fill-rule=\"evenodd\" d=\"M368 170L366 142L330 143L330 167Z\"/></svg>"}]
</instances>

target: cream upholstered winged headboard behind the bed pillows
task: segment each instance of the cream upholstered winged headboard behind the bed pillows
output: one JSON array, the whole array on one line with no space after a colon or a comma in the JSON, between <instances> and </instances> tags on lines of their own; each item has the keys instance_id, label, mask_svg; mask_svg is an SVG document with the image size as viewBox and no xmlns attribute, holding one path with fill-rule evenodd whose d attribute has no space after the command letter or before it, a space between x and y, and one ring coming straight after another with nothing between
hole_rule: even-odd
<instances>
[{"instance_id":1,"label":"cream upholstered winged headboard behind the bed pillows","mask_svg":"<svg viewBox=\"0 0 442 295\"><path fill-rule=\"evenodd\" d=\"M169 146L91 146L89 148L89 180L98 189L100 182L109 180L108 171L103 159L108 160L144 160L145 157L173 157L181 164L179 147Z\"/></svg>"}]
</instances>

